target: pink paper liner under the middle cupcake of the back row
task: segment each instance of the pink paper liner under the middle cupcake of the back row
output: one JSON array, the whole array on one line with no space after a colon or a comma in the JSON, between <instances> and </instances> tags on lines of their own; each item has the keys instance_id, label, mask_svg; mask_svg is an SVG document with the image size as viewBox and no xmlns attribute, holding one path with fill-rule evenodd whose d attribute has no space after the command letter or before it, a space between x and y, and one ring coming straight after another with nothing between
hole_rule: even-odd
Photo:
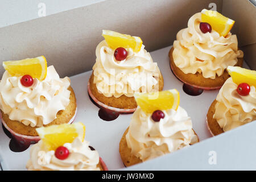
<instances>
[{"instance_id":1,"label":"pink paper liner under the middle cupcake of the back row","mask_svg":"<svg viewBox=\"0 0 256 182\"><path fill-rule=\"evenodd\" d=\"M136 108L134 108L134 109L119 109L116 107L111 107L111 106L105 105L102 102L98 101L97 98L93 96L92 91L90 90L90 82L88 82L88 84L87 84L87 89L88 89L88 94L89 94L90 98L92 98L92 100L95 102L95 104L98 107L104 108L110 112L113 112L113 114L131 114L131 113L134 113L134 111L136 110Z\"/></svg>"}]
</instances>

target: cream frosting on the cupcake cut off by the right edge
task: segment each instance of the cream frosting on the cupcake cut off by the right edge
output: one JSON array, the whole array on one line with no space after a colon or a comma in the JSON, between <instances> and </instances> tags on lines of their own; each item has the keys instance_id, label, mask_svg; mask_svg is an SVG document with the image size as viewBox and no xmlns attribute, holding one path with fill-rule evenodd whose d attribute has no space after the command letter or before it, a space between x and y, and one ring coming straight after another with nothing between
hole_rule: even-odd
<instances>
[{"instance_id":1,"label":"cream frosting on the cupcake cut off by the right edge","mask_svg":"<svg viewBox=\"0 0 256 182\"><path fill-rule=\"evenodd\" d=\"M217 95L213 118L224 131L256 120L256 92L250 87L248 96L237 93L237 84L228 78Z\"/></svg>"}]
</instances>

